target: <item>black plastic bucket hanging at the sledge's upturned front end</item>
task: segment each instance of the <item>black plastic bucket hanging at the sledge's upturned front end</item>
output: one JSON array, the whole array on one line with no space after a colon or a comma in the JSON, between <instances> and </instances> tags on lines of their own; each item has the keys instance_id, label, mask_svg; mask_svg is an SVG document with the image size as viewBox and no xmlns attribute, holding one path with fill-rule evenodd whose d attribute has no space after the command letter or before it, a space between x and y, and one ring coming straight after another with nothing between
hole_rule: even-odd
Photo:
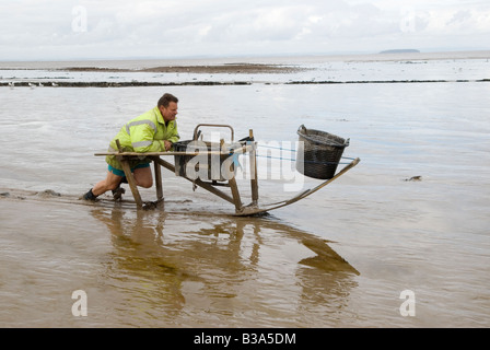
<instances>
[{"instance_id":1,"label":"black plastic bucket hanging at the sledge's upturned front end","mask_svg":"<svg viewBox=\"0 0 490 350\"><path fill-rule=\"evenodd\" d=\"M305 176L329 179L335 176L349 139L342 139L325 131L298 129L300 144L296 154L296 170Z\"/></svg>"}]
</instances>

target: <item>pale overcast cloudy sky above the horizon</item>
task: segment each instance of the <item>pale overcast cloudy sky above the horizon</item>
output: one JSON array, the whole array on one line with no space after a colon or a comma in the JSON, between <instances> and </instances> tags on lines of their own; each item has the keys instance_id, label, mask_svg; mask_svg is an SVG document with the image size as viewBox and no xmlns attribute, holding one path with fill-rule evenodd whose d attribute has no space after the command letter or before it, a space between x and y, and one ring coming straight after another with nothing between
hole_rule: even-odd
<instances>
[{"instance_id":1,"label":"pale overcast cloudy sky above the horizon","mask_svg":"<svg viewBox=\"0 0 490 350\"><path fill-rule=\"evenodd\" d=\"M0 60L490 49L489 0L0 0Z\"/></svg>"}]
</instances>

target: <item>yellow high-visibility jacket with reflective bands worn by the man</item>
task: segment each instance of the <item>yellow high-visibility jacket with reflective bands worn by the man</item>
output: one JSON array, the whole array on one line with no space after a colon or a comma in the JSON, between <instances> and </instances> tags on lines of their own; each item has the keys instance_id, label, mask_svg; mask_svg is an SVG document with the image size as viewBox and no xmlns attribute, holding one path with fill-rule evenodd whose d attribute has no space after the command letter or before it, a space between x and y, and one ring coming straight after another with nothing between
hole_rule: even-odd
<instances>
[{"instance_id":1,"label":"yellow high-visibility jacket with reflective bands worn by the man","mask_svg":"<svg viewBox=\"0 0 490 350\"><path fill-rule=\"evenodd\" d=\"M116 137L110 141L109 152L117 152L116 140L119 139L119 143L124 152L165 152L165 140L175 143L179 140L177 131L176 120L172 120L168 125L165 125L162 114L159 107L129 120ZM120 163L116 160L115 155L106 156L107 164L115 168L122 170ZM131 161L130 166L133 167L141 163L149 163L141 156L139 161Z\"/></svg>"}]
</instances>

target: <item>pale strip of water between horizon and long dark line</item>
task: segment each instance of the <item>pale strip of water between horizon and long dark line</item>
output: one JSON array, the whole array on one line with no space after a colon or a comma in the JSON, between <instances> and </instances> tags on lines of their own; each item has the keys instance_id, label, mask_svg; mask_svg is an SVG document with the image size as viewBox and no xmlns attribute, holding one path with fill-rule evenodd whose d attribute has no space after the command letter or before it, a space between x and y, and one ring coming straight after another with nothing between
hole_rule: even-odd
<instances>
[{"instance_id":1,"label":"pale strip of water between horizon and long dark line","mask_svg":"<svg viewBox=\"0 0 490 350\"><path fill-rule=\"evenodd\" d=\"M247 82L283 84L295 82L351 83L378 81L475 81L489 79L490 51L416 52L390 55L209 58L188 60L110 61L0 61L0 83L196 83ZM290 73L178 73L138 70L175 66L270 65L294 68ZM132 71L63 71L62 68L108 68ZM295 70L300 68L300 70Z\"/></svg>"}]
</instances>

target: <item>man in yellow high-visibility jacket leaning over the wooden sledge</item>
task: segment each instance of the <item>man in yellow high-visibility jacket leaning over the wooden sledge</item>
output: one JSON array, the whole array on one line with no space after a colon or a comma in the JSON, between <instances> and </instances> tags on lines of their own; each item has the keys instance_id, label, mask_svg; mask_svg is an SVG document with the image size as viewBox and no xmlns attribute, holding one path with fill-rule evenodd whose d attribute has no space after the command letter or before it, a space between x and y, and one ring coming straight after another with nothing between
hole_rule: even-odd
<instances>
[{"instance_id":1,"label":"man in yellow high-visibility jacket leaning over the wooden sledge","mask_svg":"<svg viewBox=\"0 0 490 350\"><path fill-rule=\"evenodd\" d=\"M156 107L130 120L119 130L119 133L110 141L109 152L118 151L117 139L122 152L170 151L173 143L179 139L175 120L177 103L177 97L172 94L164 94L159 100ZM95 200L98 196L112 190L114 198L117 200L125 192L124 188L120 188L121 182L126 179L121 164L115 155L107 155L106 162L108 164L106 178L95 184L83 195L83 199ZM129 166L138 186L144 188L153 186L150 162L145 158L130 161Z\"/></svg>"}]
</instances>

